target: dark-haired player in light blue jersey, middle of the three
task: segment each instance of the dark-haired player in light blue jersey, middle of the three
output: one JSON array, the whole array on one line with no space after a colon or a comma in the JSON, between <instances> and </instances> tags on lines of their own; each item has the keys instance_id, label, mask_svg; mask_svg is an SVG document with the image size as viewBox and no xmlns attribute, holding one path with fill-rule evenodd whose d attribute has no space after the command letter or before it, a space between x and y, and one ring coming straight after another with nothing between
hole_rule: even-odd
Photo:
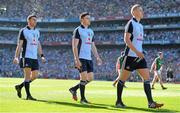
<instances>
[{"instance_id":1,"label":"dark-haired player in light blue jersey, middle of the three","mask_svg":"<svg viewBox=\"0 0 180 113\"><path fill-rule=\"evenodd\" d=\"M94 78L91 52L93 52L99 65L102 64L102 61L94 43L94 32L89 28L90 14L87 12L80 14L80 21L81 25L74 30L72 37L75 67L80 73L80 83L70 88L69 91L71 92L73 99L77 101L76 91L80 88L80 102L86 104L89 102L85 98L85 86Z\"/></svg>"}]
</instances>

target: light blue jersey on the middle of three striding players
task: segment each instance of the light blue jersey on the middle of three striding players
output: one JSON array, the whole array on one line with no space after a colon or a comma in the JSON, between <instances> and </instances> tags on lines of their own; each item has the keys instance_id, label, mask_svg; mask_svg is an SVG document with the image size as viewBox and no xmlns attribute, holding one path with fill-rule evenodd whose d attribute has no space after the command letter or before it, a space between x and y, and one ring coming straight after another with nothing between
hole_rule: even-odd
<instances>
[{"instance_id":1,"label":"light blue jersey on the middle of three striding players","mask_svg":"<svg viewBox=\"0 0 180 113\"><path fill-rule=\"evenodd\" d=\"M73 32L73 38L79 39L78 54L79 59L92 60L91 46L94 41L94 32L90 28L85 28L83 25L77 27Z\"/></svg>"}]
</instances>

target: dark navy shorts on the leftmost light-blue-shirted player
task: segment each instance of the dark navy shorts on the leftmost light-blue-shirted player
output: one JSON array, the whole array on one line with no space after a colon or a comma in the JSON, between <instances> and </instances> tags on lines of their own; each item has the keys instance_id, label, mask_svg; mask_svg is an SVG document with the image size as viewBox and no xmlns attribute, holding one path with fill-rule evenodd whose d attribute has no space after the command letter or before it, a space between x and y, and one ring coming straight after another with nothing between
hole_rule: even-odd
<instances>
[{"instance_id":1,"label":"dark navy shorts on the leftmost light-blue-shirted player","mask_svg":"<svg viewBox=\"0 0 180 113\"><path fill-rule=\"evenodd\" d=\"M31 68L31 71L39 70L39 63L37 59L21 58L19 65L20 68Z\"/></svg>"}]
</instances>

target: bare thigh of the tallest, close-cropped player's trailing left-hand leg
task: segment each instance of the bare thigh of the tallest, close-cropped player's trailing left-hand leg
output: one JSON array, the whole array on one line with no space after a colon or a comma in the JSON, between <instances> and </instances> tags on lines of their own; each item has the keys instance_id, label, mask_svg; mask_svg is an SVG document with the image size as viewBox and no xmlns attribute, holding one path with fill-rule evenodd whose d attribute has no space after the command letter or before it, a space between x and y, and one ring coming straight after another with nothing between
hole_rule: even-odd
<instances>
[{"instance_id":1,"label":"bare thigh of the tallest, close-cropped player's trailing left-hand leg","mask_svg":"<svg viewBox=\"0 0 180 113\"><path fill-rule=\"evenodd\" d=\"M122 69L120 74L119 74L119 79L122 81L126 81L129 78L131 71Z\"/></svg>"}]
</instances>

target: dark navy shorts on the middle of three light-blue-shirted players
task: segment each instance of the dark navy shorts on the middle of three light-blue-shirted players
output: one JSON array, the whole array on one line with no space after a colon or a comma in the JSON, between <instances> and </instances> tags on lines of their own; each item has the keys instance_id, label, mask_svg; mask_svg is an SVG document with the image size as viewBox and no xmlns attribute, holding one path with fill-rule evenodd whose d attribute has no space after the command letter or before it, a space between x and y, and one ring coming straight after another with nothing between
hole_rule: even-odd
<instances>
[{"instance_id":1,"label":"dark navy shorts on the middle of three light-blue-shirted players","mask_svg":"<svg viewBox=\"0 0 180 113\"><path fill-rule=\"evenodd\" d=\"M84 71L87 71L87 73L93 72L93 62L92 60L86 60L86 59L79 59L82 66L81 69L79 69L79 72L82 73Z\"/></svg>"}]
</instances>

